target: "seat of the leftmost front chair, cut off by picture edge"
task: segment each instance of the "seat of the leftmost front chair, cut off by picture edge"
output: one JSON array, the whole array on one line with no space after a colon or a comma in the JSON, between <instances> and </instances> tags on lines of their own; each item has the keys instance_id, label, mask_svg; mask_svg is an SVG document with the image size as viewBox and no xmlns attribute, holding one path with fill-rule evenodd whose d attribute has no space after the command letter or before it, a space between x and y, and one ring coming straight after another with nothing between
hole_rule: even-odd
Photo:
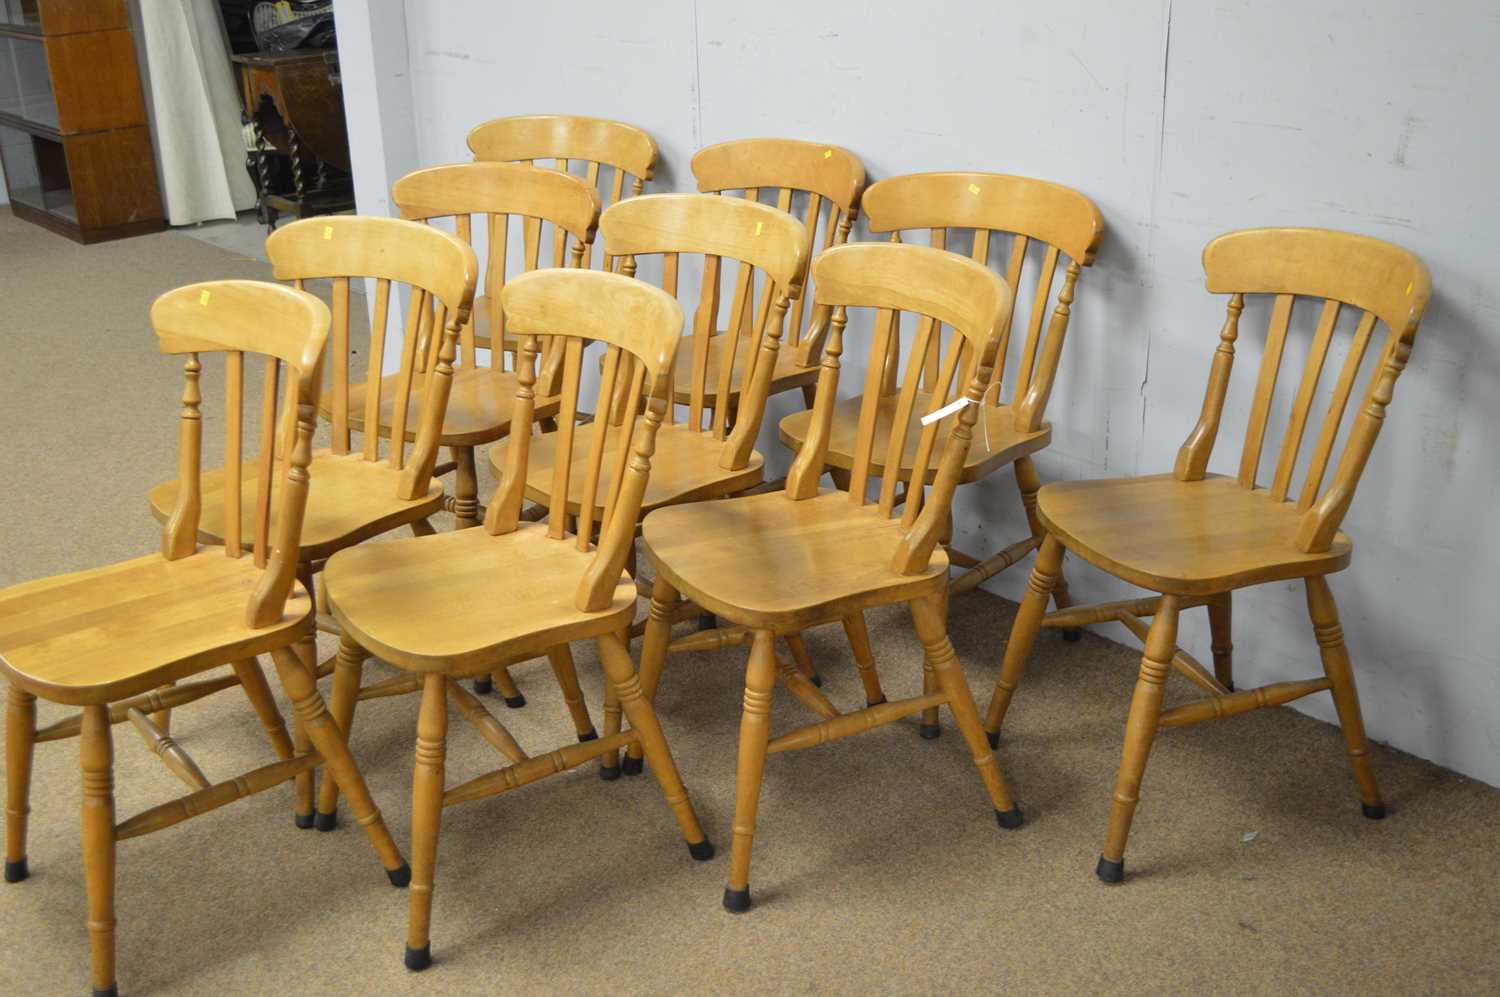
<instances>
[{"instance_id":1,"label":"seat of the leftmost front chair, cut off by picture edge","mask_svg":"<svg viewBox=\"0 0 1500 997\"><path fill-rule=\"evenodd\" d=\"M282 618L252 630L244 618L262 574L249 553L204 547L10 586L0 591L0 670L33 696L90 706L284 648L312 600L297 585Z\"/></svg>"}]
</instances>

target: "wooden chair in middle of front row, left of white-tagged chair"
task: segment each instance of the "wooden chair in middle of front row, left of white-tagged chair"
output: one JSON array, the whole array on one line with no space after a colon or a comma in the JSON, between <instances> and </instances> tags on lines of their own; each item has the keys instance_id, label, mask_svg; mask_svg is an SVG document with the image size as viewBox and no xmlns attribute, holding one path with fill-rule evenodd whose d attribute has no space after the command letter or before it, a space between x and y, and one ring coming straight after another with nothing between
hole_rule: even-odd
<instances>
[{"instance_id":1,"label":"wooden chair in middle of front row, left of white-tagged chair","mask_svg":"<svg viewBox=\"0 0 1500 997\"><path fill-rule=\"evenodd\" d=\"M705 861L714 849L704 837L678 777L651 703L642 696L624 631L634 615L636 586L624 571L634 543L636 516L646 495L657 433L668 408L668 384L682 312L670 295L620 274L548 270L512 280L501 294L510 328L520 334L520 387L513 423L531 423L536 336L564 351L558 447L585 454L585 474L573 498L573 466L556 463L548 523L520 519L530 444L518 433L507 448L500 490L484 529L466 529L345 550L328 562L333 613L346 634L386 661L420 676L417 763L412 777L412 892L406 967L430 961L429 924L438 826L444 807L483 799L642 744L688 852ZM628 406L609 418L578 424L579 373L585 340L608 343L604 379L596 412L614 394L650 399L644 418ZM610 441L633 439L627 448ZM603 496L603 510L597 499ZM570 502L578 529L566 529ZM598 544L592 544L600 525ZM531 657L570 640L592 639L608 685L632 730L580 738L542 756L528 756L514 738L456 679L492 667L496 658ZM338 697L338 690L334 691ZM446 789L448 700L512 765ZM345 703L352 706L352 702Z\"/></svg>"}]
</instances>

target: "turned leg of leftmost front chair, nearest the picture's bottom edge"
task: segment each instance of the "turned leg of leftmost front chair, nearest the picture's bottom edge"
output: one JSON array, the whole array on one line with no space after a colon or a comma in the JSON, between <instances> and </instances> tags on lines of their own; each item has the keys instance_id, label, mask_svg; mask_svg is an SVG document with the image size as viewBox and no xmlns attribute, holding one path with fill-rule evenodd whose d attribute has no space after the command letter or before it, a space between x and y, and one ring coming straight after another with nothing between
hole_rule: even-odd
<instances>
[{"instance_id":1,"label":"turned leg of leftmost front chair, nearest the picture's bottom edge","mask_svg":"<svg viewBox=\"0 0 1500 997\"><path fill-rule=\"evenodd\" d=\"M114 997L114 739L105 705L84 706L78 765L82 772L90 984L94 997Z\"/></svg>"}]
</instances>

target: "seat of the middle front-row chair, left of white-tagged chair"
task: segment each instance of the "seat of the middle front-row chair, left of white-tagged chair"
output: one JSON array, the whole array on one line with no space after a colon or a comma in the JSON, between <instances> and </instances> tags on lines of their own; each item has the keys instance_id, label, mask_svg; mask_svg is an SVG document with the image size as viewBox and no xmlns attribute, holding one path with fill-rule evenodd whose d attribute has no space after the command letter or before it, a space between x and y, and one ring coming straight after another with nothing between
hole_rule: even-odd
<instances>
[{"instance_id":1,"label":"seat of the middle front-row chair, left of white-tagged chair","mask_svg":"<svg viewBox=\"0 0 1500 997\"><path fill-rule=\"evenodd\" d=\"M351 547L328 559L324 579L360 646L402 669L466 675L628 627L636 585L624 571L608 609L573 606L592 559L573 537L520 523L502 537L474 528Z\"/></svg>"}]
</instances>

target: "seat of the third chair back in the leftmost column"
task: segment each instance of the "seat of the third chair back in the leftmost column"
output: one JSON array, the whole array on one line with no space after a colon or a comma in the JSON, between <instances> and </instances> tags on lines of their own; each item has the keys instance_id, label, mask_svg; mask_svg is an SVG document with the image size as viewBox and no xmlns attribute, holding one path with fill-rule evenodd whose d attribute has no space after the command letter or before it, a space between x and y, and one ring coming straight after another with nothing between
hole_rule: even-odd
<instances>
[{"instance_id":1,"label":"seat of the third chair back in the leftmost column","mask_svg":"<svg viewBox=\"0 0 1500 997\"><path fill-rule=\"evenodd\" d=\"M381 378L380 388L380 427L388 430L396 417L396 381L398 375ZM406 441L417 439L417 427L422 426L422 396L424 379L417 376L411 382L411 406L406 409ZM364 432L364 394L366 385L350 387L350 429ZM324 417L333 411L328 393L322 393ZM510 432L510 415L516 403L516 375L508 370L494 367L458 367L453 372L453 387L448 391L448 408L442 415L442 432L440 442L444 447L478 447ZM556 415L561 399L537 397L536 418L550 418Z\"/></svg>"}]
</instances>

